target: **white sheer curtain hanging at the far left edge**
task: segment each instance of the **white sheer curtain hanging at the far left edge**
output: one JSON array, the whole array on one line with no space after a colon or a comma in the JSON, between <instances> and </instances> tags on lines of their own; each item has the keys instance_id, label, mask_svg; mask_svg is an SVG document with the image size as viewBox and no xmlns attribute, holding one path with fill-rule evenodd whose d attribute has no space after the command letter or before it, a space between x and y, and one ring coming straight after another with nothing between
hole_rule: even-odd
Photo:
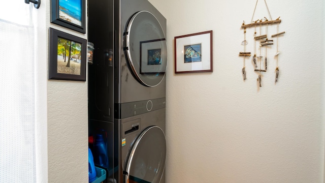
<instances>
[{"instance_id":1,"label":"white sheer curtain hanging at the far left edge","mask_svg":"<svg viewBox=\"0 0 325 183\"><path fill-rule=\"evenodd\" d=\"M3 0L1 0L3 1ZM0 1L0 2L1 2ZM8 1L6 1L8 2ZM36 182L32 4L0 6L0 182Z\"/></svg>"}]
</instances>

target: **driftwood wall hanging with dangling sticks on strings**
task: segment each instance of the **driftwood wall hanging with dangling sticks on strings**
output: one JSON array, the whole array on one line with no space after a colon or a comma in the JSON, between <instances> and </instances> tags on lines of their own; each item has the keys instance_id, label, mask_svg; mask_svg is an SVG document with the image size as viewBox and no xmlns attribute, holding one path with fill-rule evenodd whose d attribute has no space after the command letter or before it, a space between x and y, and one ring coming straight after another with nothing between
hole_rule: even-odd
<instances>
[{"instance_id":1,"label":"driftwood wall hanging with dangling sticks on strings","mask_svg":"<svg viewBox=\"0 0 325 183\"><path fill-rule=\"evenodd\" d=\"M244 66L242 69L242 75L243 79L246 80L246 58L252 56L252 62L254 67L254 72L258 74L257 78L257 84L259 87L262 87L262 73L267 72L268 68L268 48L274 45L274 42L276 42L276 53L275 53L275 61L276 61L276 70L275 70L275 83L278 81L279 77L279 36L283 35L285 32L279 33L279 24L281 23L280 17L276 20L272 20L268 5L266 3L266 0L264 0L265 6L268 10L269 19L266 17L257 19L253 21L254 14L256 11L258 0L256 1L254 13L251 19L250 24L245 24L245 21L242 23L241 28L244 29L244 41L242 41L242 45L244 46L244 51L239 52L239 56L243 56L244 58ZM268 33L268 26L271 25L277 25L277 33L271 35L271 39L269 39L269 33ZM263 27L263 28L262 28ZM251 28L254 29L254 50L253 53L246 50L246 45L248 44L246 40L246 29ZM273 39L276 40L273 40Z\"/></svg>"}]
</instances>

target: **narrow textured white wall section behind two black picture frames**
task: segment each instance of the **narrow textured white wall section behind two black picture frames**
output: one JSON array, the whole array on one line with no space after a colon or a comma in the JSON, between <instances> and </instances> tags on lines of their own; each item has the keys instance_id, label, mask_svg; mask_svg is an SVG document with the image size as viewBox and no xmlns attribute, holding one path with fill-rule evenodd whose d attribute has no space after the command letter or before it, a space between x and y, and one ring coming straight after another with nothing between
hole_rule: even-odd
<instances>
[{"instance_id":1,"label":"narrow textured white wall section behind two black picture frames","mask_svg":"<svg viewBox=\"0 0 325 183\"><path fill-rule=\"evenodd\" d=\"M50 23L50 0L42 5L46 40L49 27L87 39L87 34ZM87 86L87 81L47 80L48 182L88 182Z\"/></svg>"}]
</instances>

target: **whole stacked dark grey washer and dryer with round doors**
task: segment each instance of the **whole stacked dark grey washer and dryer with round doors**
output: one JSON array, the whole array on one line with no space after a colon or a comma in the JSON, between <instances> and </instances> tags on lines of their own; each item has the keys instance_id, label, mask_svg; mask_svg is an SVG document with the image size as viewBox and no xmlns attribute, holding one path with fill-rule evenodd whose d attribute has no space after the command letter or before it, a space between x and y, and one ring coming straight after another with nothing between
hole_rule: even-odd
<instances>
[{"instance_id":1,"label":"whole stacked dark grey washer and dryer with round doors","mask_svg":"<svg viewBox=\"0 0 325 183\"><path fill-rule=\"evenodd\" d=\"M105 182L164 183L166 19L147 0L88 1L88 41L95 165L106 169Z\"/></svg>"}]
</instances>

